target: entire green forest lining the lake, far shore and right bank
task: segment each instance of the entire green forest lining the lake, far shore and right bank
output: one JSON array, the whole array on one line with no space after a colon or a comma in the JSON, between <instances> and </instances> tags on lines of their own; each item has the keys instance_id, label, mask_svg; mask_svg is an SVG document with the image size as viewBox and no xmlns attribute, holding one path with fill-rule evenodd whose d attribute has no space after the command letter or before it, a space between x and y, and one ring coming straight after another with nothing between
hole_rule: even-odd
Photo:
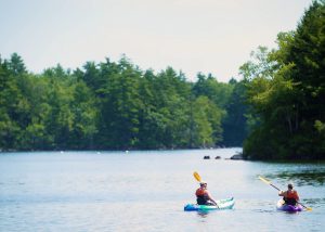
<instances>
[{"instance_id":1,"label":"entire green forest lining the lake, far shore and right bank","mask_svg":"<svg viewBox=\"0 0 325 232\"><path fill-rule=\"evenodd\" d=\"M16 53L0 57L0 151L243 145L251 159L324 159L325 1L227 83L142 70L126 56L41 74Z\"/></svg>"}]
</instances>

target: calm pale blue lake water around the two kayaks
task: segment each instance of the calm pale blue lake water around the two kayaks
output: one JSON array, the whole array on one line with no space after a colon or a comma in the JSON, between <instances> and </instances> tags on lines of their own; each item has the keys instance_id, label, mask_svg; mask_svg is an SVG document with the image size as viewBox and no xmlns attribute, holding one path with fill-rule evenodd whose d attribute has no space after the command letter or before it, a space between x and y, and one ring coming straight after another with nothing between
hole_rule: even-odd
<instances>
[{"instance_id":1,"label":"calm pale blue lake water around the two kayaks","mask_svg":"<svg viewBox=\"0 0 325 232\"><path fill-rule=\"evenodd\" d=\"M0 154L0 231L325 231L325 164L225 159L237 151ZM183 211L195 170L235 208ZM294 182L313 210L276 211L277 191L259 175Z\"/></svg>"}]
</instances>

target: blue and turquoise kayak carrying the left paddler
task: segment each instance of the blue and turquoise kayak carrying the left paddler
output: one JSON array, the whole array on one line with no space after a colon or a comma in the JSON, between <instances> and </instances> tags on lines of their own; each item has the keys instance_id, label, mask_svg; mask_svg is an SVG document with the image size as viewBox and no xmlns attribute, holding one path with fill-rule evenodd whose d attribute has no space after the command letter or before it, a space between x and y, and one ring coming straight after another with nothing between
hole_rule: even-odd
<instances>
[{"instance_id":1,"label":"blue and turquoise kayak carrying the left paddler","mask_svg":"<svg viewBox=\"0 0 325 232\"><path fill-rule=\"evenodd\" d=\"M184 206L184 211L198 211L198 210L220 210L220 209L232 209L235 205L234 197L216 201L216 205L197 205L187 204Z\"/></svg>"}]
</instances>

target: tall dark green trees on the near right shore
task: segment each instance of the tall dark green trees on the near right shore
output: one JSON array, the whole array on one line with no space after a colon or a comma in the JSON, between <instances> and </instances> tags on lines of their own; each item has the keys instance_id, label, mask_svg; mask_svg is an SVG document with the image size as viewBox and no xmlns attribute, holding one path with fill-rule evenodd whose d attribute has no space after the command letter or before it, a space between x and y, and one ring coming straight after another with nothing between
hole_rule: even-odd
<instances>
[{"instance_id":1,"label":"tall dark green trees on the near right shore","mask_svg":"<svg viewBox=\"0 0 325 232\"><path fill-rule=\"evenodd\" d=\"M256 159L324 159L325 3L314 1L278 49L257 52L240 67L258 124L244 154Z\"/></svg>"}]
</instances>

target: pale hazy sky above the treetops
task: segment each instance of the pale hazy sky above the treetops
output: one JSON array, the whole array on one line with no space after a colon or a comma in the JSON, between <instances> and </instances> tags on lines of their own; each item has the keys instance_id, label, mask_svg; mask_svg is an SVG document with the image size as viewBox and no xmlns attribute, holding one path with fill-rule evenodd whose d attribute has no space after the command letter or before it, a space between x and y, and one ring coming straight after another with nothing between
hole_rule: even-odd
<instances>
[{"instance_id":1,"label":"pale hazy sky above the treetops","mask_svg":"<svg viewBox=\"0 0 325 232\"><path fill-rule=\"evenodd\" d=\"M141 69L168 66L195 80L238 79L259 46L276 48L280 31L296 29L312 0L0 0L0 54L18 53L41 73L86 62Z\"/></svg>"}]
</instances>

